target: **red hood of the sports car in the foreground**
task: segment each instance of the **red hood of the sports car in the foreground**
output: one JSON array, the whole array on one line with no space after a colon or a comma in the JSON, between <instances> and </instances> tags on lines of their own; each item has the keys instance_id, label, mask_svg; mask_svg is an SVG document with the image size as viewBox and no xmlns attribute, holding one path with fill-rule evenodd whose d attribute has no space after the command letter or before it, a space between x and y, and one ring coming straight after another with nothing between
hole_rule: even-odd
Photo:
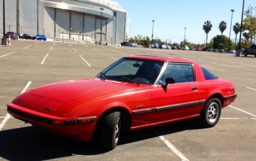
<instances>
[{"instance_id":1,"label":"red hood of the sports car in the foreground","mask_svg":"<svg viewBox=\"0 0 256 161\"><path fill-rule=\"evenodd\" d=\"M50 84L32 89L32 94L54 99L59 102L67 102L69 99L84 103L102 95L133 89L135 84L122 83L100 78L79 79L56 84Z\"/></svg>"}]
</instances>

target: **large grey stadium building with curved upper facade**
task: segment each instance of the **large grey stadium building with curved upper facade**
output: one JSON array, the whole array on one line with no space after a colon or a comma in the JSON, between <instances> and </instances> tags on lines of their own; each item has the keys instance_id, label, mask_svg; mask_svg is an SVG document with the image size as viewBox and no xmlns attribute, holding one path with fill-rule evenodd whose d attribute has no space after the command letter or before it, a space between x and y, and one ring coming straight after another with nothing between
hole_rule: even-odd
<instances>
[{"instance_id":1,"label":"large grey stadium building with curved upper facade","mask_svg":"<svg viewBox=\"0 0 256 161\"><path fill-rule=\"evenodd\" d=\"M3 0L0 33L3 34ZM109 0L5 0L5 31L44 34L61 41L120 44L128 38L130 18ZM101 32L102 26L102 32Z\"/></svg>"}]
</instances>

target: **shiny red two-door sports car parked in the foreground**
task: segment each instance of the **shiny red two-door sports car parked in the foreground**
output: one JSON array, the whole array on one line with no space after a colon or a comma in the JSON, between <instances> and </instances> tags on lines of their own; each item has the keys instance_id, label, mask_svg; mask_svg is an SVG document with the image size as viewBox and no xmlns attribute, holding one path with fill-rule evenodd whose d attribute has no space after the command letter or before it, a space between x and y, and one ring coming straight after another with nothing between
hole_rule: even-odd
<instances>
[{"instance_id":1,"label":"shiny red two-door sports car parked in the foreground","mask_svg":"<svg viewBox=\"0 0 256 161\"><path fill-rule=\"evenodd\" d=\"M237 94L231 82L181 58L127 56L96 77L53 83L7 104L14 117L57 135L117 145L121 129L136 130L199 117L218 122Z\"/></svg>"}]
</instances>

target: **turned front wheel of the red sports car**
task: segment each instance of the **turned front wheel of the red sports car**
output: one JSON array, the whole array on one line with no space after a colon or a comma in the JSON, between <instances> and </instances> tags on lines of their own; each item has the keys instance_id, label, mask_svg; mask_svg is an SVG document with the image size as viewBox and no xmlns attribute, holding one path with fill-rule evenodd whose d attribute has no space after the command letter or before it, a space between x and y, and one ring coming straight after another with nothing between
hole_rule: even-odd
<instances>
[{"instance_id":1,"label":"turned front wheel of the red sports car","mask_svg":"<svg viewBox=\"0 0 256 161\"><path fill-rule=\"evenodd\" d=\"M109 113L103 120L101 144L104 149L112 150L116 147L121 130L121 113Z\"/></svg>"}]
</instances>

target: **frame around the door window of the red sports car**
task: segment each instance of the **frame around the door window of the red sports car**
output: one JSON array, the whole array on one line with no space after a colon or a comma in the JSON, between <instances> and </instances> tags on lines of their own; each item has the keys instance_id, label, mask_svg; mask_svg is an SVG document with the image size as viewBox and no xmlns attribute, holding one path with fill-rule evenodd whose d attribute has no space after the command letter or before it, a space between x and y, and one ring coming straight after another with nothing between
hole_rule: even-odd
<instances>
[{"instance_id":1,"label":"frame around the door window of the red sports car","mask_svg":"<svg viewBox=\"0 0 256 161\"><path fill-rule=\"evenodd\" d=\"M194 64L193 63L186 63L186 62L166 62L164 65L163 65L163 68L161 69L161 72L159 74L159 76L157 77L156 81L155 81L155 84L154 85L161 85L160 84L160 79L161 77L163 76L166 68L167 68L167 65L169 64L181 64L181 65L191 65L192 66L192 70L193 70L193 75L194 75L194 81L193 82L196 82L196 77L195 77L195 72L194 72ZM191 83L191 82L181 82L181 83ZM175 83L175 84L181 84L181 83Z\"/></svg>"}]
</instances>

